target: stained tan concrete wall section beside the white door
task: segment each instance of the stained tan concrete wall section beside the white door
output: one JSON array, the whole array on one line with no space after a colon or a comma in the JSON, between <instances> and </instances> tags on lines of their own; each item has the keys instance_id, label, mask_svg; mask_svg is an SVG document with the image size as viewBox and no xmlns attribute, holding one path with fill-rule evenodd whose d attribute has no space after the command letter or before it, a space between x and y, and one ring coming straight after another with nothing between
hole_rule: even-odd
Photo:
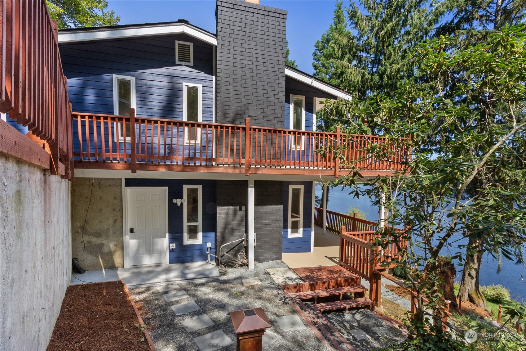
<instances>
[{"instance_id":1,"label":"stained tan concrete wall section beside the white door","mask_svg":"<svg viewBox=\"0 0 526 351\"><path fill-rule=\"evenodd\" d=\"M72 182L72 254L86 270L124 267L122 184L121 178Z\"/></svg>"}]
</instances>

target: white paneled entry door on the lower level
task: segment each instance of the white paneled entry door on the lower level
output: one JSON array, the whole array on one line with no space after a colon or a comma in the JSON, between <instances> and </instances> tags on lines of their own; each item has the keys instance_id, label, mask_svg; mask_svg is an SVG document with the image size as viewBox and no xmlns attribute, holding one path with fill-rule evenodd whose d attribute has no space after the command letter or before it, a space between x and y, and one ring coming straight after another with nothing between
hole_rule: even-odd
<instances>
[{"instance_id":1,"label":"white paneled entry door on the lower level","mask_svg":"<svg viewBox=\"0 0 526 351\"><path fill-rule=\"evenodd\" d=\"M130 266L168 263L168 188L127 188Z\"/></svg>"}]
</instances>

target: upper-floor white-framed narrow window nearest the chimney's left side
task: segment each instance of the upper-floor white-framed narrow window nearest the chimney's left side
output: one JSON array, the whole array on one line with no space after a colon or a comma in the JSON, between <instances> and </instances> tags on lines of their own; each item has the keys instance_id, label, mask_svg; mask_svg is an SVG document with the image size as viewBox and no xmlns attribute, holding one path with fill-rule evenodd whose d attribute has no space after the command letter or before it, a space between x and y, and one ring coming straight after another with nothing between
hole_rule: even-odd
<instances>
[{"instance_id":1,"label":"upper-floor white-framed narrow window nearest the chimney's left side","mask_svg":"<svg viewBox=\"0 0 526 351\"><path fill-rule=\"evenodd\" d=\"M203 121L203 85L183 83L183 120ZM199 144L200 142L200 128L185 128L185 144Z\"/></svg>"}]
</instances>

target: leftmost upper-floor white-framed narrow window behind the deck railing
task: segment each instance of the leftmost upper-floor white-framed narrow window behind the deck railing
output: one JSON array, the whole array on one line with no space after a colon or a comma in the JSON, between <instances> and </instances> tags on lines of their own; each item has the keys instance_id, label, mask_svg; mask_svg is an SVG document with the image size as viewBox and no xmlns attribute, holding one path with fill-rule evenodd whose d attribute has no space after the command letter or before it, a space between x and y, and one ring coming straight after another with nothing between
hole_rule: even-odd
<instances>
[{"instance_id":1,"label":"leftmost upper-floor white-framed narrow window behind the deck railing","mask_svg":"<svg viewBox=\"0 0 526 351\"><path fill-rule=\"evenodd\" d=\"M116 116L129 116L130 109L135 109L135 77L127 75L113 75L113 114ZM130 126L122 123L115 125L115 141L130 141ZM125 139L126 138L126 139Z\"/></svg>"}]
</instances>

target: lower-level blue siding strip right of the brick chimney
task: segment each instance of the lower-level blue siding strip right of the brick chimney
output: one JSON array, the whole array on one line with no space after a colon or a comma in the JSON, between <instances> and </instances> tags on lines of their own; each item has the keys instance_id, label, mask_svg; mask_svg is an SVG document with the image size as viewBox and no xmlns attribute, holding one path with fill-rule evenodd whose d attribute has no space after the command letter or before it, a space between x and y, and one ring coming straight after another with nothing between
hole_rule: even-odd
<instances>
[{"instance_id":1,"label":"lower-level blue siding strip right of the brick chimney","mask_svg":"<svg viewBox=\"0 0 526 351\"><path fill-rule=\"evenodd\" d=\"M303 223L301 238L288 238L289 227L289 185L303 185ZM286 181L283 184L283 253L310 252L312 237L312 182Z\"/></svg>"}]
</instances>

